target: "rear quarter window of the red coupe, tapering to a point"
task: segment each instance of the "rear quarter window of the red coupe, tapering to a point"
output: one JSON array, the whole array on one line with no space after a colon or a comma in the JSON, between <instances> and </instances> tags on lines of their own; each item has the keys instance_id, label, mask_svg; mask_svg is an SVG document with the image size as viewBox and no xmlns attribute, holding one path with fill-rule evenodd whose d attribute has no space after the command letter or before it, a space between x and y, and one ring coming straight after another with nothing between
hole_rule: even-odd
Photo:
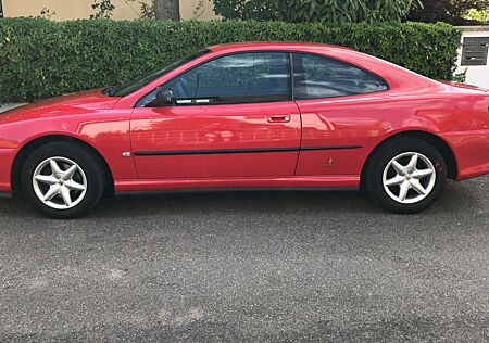
<instances>
[{"instance_id":1,"label":"rear quarter window of the red coupe, tapering to a point","mask_svg":"<svg viewBox=\"0 0 489 343\"><path fill-rule=\"evenodd\" d=\"M364 94L388 89L379 77L318 55L293 54L296 100Z\"/></svg>"}]
</instances>

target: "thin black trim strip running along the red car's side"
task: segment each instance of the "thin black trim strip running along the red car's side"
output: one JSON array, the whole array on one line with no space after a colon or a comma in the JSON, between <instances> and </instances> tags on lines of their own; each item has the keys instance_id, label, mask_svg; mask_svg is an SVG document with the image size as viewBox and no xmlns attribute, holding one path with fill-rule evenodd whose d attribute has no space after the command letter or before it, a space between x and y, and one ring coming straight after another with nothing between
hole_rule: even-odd
<instances>
[{"instance_id":1,"label":"thin black trim strip running along the red car's side","mask_svg":"<svg viewBox=\"0 0 489 343\"><path fill-rule=\"evenodd\" d=\"M296 152L314 150L347 150L362 149L362 145L331 145L304 148L262 148L262 149L222 149L222 150L174 150L174 151L137 151L136 156L172 156L172 155L217 155L217 154L249 154L267 152Z\"/></svg>"}]
</instances>

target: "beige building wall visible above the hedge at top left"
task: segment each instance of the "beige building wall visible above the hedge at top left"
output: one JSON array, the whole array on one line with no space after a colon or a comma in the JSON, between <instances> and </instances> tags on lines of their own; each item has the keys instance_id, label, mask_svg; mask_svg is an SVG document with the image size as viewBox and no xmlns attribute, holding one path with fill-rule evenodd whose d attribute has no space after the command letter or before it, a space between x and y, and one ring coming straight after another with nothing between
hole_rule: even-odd
<instances>
[{"instance_id":1,"label":"beige building wall visible above the hedge at top left","mask_svg":"<svg viewBox=\"0 0 489 343\"><path fill-rule=\"evenodd\" d=\"M5 17L38 16L42 9L55 13L51 18L55 21L89 18L93 14L91 4L93 0L1 0ZM114 20L135 20L140 14L141 0L112 0L115 5ZM150 0L143 0L149 2ZM180 14L183 20L192 18L199 0L180 0ZM212 1L204 0L203 13L199 20L215 20Z\"/></svg>"}]
</instances>

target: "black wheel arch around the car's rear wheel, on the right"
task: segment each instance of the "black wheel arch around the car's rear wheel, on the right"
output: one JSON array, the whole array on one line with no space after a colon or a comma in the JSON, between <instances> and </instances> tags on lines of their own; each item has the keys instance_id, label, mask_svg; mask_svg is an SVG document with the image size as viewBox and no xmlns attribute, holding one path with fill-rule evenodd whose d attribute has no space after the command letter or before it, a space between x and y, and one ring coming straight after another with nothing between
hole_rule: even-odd
<instances>
[{"instance_id":1,"label":"black wheel arch around the car's rear wheel, on the right","mask_svg":"<svg viewBox=\"0 0 489 343\"><path fill-rule=\"evenodd\" d=\"M366 158L362 168L362 174L360 178L361 188L363 188L366 170L368 169L368 165L372 163L373 156L376 154L376 152L379 151L386 143L403 138L418 138L434 145L440 152L440 154L443 156L444 162L447 163L448 177L450 179L455 179L457 173L457 165L455 155L453 154L453 151L450 148L450 145L442 138L440 138L435 134L421 130L410 130L394 134L384 139L380 143L378 143L374 148L374 150L368 154L368 157Z\"/></svg>"}]
</instances>

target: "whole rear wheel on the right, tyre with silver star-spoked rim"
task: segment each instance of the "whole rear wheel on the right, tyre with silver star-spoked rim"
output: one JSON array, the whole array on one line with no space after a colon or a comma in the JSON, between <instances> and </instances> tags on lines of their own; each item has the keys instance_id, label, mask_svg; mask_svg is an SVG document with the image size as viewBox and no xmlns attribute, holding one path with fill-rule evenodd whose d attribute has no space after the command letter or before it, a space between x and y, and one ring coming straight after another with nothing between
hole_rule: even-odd
<instances>
[{"instance_id":1,"label":"whole rear wheel on the right, tyre with silver star-spoked rim","mask_svg":"<svg viewBox=\"0 0 489 343\"><path fill-rule=\"evenodd\" d=\"M399 214L418 213L441 195L447 164L428 142L398 139L381 145L369 158L365 181L367 193L383 208Z\"/></svg>"}]
</instances>

